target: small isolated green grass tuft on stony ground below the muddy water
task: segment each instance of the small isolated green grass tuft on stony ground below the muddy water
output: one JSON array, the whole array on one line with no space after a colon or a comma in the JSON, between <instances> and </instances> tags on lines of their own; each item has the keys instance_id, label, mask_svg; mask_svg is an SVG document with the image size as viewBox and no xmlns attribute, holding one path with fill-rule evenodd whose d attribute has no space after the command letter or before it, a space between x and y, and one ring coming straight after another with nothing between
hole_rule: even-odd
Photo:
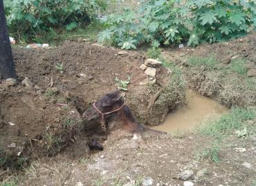
<instances>
[{"instance_id":1,"label":"small isolated green grass tuft on stony ground below the muddy water","mask_svg":"<svg viewBox=\"0 0 256 186\"><path fill-rule=\"evenodd\" d=\"M221 146L219 143L212 143L210 147L204 148L200 154L198 154L198 158L208 158L213 163L219 163L221 161L219 157L219 153L221 152Z\"/></svg>"}]
</instances>

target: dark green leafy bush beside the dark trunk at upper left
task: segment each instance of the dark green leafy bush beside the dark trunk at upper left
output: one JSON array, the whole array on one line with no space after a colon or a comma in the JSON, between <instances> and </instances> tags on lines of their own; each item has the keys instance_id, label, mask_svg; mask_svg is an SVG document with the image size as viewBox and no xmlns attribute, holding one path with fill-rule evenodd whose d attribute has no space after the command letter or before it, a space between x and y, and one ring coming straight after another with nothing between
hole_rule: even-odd
<instances>
[{"instance_id":1,"label":"dark green leafy bush beside the dark trunk at upper left","mask_svg":"<svg viewBox=\"0 0 256 186\"><path fill-rule=\"evenodd\" d=\"M53 28L73 30L86 25L99 9L107 6L103 0L5 0L4 3L10 33L25 40Z\"/></svg>"}]
</instances>

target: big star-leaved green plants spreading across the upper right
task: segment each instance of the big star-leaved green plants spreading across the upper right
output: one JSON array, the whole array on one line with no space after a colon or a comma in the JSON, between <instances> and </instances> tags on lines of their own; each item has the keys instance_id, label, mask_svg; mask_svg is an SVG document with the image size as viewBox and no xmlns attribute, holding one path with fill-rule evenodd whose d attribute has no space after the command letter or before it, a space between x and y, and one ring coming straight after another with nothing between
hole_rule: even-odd
<instances>
[{"instance_id":1,"label":"big star-leaved green plants spreading across the upper right","mask_svg":"<svg viewBox=\"0 0 256 186\"><path fill-rule=\"evenodd\" d=\"M141 43L217 42L240 37L256 27L255 1L142 1L137 11L125 9L104 17L100 42L133 49Z\"/></svg>"}]
</instances>

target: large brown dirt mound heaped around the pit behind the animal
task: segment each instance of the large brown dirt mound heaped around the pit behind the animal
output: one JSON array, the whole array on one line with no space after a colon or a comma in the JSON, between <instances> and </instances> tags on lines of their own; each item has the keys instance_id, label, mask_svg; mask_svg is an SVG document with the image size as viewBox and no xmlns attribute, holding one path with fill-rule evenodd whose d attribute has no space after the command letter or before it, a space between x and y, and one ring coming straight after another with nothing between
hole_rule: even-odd
<instances>
[{"instance_id":1,"label":"large brown dirt mound heaped around the pit behind the animal","mask_svg":"<svg viewBox=\"0 0 256 186\"><path fill-rule=\"evenodd\" d=\"M139 69L145 56L137 52L117 53L113 48L69 41L48 50L15 48L19 81L28 77L37 86L27 88L19 82L6 87L4 81L0 84L2 165L13 161L20 165L31 154L52 155L76 141L81 136L82 123L77 119L78 112L84 112L102 94L116 90L116 77L125 80L128 74L132 75L126 101L143 124L158 125L168 110L183 102L184 92L181 92L158 109L159 105L154 104L157 93L161 97L170 86L176 86L170 83L172 74L159 68L154 86L140 85L147 79ZM57 63L64 65L64 73L55 68ZM54 89L48 87L49 83ZM12 143L15 147L10 147ZM80 148L86 152L85 146Z\"/></svg>"}]
</instances>

